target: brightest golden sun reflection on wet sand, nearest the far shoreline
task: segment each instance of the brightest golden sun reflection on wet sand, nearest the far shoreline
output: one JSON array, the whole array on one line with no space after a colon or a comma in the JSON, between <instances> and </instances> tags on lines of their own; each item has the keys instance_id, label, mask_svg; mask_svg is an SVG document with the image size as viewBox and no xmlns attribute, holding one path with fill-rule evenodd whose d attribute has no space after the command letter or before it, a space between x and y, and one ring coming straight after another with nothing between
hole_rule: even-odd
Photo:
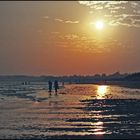
<instances>
[{"instance_id":1,"label":"brightest golden sun reflection on wet sand, nearest the far shoreline","mask_svg":"<svg viewBox=\"0 0 140 140\"><path fill-rule=\"evenodd\" d=\"M108 90L108 86L106 85L97 86L97 99L104 99Z\"/></svg>"}]
</instances>

